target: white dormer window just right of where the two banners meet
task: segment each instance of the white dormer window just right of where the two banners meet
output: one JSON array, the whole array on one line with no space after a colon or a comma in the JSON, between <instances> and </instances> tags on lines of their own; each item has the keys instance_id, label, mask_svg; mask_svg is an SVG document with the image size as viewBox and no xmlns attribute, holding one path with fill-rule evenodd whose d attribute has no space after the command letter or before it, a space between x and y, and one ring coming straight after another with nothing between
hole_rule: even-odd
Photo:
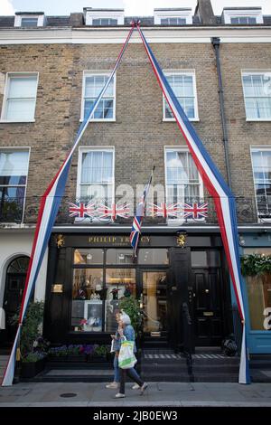
<instances>
[{"instance_id":1,"label":"white dormer window just right of where the two banners meet","mask_svg":"<svg viewBox=\"0 0 271 425\"><path fill-rule=\"evenodd\" d=\"M155 25L192 25L192 9L154 9Z\"/></svg>"}]
</instances>

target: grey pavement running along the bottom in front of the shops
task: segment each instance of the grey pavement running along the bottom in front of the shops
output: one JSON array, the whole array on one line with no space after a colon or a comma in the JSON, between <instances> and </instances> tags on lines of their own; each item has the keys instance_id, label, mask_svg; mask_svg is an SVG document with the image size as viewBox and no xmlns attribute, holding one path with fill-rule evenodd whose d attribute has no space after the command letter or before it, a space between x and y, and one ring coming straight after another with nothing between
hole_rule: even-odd
<instances>
[{"instance_id":1,"label":"grey pavement running along the bottom in front of the shops","mask_svg":"<svg viewBox=\"0 0 271 425\"><path fill-rule=\"evenodd\" d=\"M271 383L150 382L143 395L126 383L126 398L105 383L19 382L0 387L1 407L271 407Z\"/></svg>"}]
</instances>

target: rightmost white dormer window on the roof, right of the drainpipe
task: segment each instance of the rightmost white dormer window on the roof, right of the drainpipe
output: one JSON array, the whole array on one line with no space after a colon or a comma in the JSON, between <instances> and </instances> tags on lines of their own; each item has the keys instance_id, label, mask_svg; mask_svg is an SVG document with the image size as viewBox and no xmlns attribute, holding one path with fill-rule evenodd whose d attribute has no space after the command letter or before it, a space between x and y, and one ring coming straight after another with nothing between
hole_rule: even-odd
<instances>
[{"instance_id":1,"label":"rightmost white dormer window on the roof, right of the drainpipe","mask_svg":"<svg viewBox=\"0 0 271 425\"><path fill-rule=\"evenodd\" d=\"M264 24L261 7L227 8L222 13L223 24L231 25L255 25Z\"/></svg>"}]
</instances>

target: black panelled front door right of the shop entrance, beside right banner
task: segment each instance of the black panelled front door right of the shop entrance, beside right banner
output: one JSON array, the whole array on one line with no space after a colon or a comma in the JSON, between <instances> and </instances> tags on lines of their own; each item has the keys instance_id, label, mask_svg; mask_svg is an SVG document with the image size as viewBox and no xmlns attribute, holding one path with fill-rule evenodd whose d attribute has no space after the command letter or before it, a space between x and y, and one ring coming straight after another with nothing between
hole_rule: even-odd
<instances>
[{"instance_id":1,"label":"black panelled front door right of the shop entrance, beside right banner","mask_svg":"<svg viewBox=\"0 0 271 425\"><path fill-rule=\"evenodd\" d=\"M222 339L220 269L192 269L192 283L195 345L220 345Z\"/></svg>"}]
</instances>

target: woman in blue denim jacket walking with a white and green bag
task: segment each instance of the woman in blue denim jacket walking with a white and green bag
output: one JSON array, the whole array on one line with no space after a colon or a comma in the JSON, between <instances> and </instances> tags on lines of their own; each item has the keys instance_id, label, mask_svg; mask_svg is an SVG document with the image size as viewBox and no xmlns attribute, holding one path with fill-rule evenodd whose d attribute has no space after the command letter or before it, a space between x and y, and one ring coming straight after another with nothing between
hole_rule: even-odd
<instances>
[{"instance_id":1,"label":"woman in blue denim jacket walking with a white and green bag","mask_svg":"<svg viewBox=\"0 0 271 425\"><path fill-rule=\"evenodd\" d=\"M125 339L127 341L134 341L134 353L135 353L136 352L135 329L131 325L131 319L128 315L126 315L126 313L123 313L120 315L118 334L120 335L121 341L124 341ZM146 382L142 381L138 373L135 371L134 367L130 369L119 369L119 372L120 372L120 386L119 386L119 392L117 392L115 396L117 399L126 397L126 374L129 376L129 378L131 378L133 381L137 383L141 394L145 392L145 389L147 388L148 385Z\"/></svg>"}]
</instances>

